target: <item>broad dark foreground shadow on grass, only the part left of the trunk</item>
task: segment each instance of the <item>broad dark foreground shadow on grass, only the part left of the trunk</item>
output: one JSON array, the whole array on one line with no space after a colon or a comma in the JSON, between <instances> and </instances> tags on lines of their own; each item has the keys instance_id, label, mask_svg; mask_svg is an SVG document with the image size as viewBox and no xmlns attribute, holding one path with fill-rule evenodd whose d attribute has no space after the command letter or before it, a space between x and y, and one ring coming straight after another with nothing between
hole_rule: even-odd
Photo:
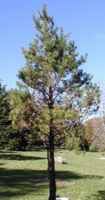
<instances>
[{"instance_id":1,"label":"broad dark foreground shadow on grass, only the part left of the trunk","mask_svg":"<svg viewBox=\"0 0 105 200\"><path fill-rule=\"evenodd\" d=\"M42 193L48 188L46 171L0 168L0 199ZM3 190L2 190L3 188Z\"/></svg>"}]
</instances>

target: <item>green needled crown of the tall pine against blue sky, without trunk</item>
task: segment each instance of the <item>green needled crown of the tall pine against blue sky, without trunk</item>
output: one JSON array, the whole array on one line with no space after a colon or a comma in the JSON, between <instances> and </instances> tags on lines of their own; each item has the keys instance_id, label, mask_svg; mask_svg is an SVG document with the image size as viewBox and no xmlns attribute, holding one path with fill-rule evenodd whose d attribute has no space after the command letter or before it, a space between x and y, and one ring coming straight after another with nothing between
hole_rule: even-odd
<instances>
[{"instance_id":1,"label":"green needled crown of the tall pine against blue sky, without trunk","mask_svg":"<svg viewBox=\"0 0 105 200\"><path fill-rule=\"evenodd\" d=\"M34 17L34 25L35 39L29 48L23 49L26 63L19 71L22 84L34 94L40 107L42 104L48 107L53 104L55 108L60 105L59 108L68 110L74 107L80 108L81 113L93 111L93 107L95 110L99 88L80 68L85 57L79 55L75 42L55 26L46 7Z\"/></svg>"}]
</instances>

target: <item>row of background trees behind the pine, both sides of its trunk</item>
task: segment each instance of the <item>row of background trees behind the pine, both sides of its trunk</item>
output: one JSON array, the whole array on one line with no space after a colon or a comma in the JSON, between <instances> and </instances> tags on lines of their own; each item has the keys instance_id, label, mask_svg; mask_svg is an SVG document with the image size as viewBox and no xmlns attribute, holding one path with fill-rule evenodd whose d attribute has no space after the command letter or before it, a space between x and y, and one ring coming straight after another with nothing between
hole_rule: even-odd
<instances>
[{"instance_id":1,"label":"row of background trees behind the pine, both sides of its trunk","mask_svg":"<svg viewBox=\"0 0 105 200\"><path fill-rule=\"evenodd\" d=\"M55 108L55 145L69 150L105 150L104 119L80 121L79 112L66 110L66 131L61 123L65 108ZM60 122L57 119L61 119ZM10 150L32 150L47 148L48 109L33 105L27 90L6 90L0 83L0 148Z\"/></svg>"}]
</instances>

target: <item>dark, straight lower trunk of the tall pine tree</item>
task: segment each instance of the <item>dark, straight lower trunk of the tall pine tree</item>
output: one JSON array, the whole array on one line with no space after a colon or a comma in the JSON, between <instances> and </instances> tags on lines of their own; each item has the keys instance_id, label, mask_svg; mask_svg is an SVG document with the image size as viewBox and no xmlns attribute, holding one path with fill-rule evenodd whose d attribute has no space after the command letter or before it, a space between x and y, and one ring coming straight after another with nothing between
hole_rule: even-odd
<instances>
[{"instance_id":1,"label":"dark, straight lower trunk of the tall pine tree","mask_svg":"<svg viewBox=\"0 0 105 200\"><path fill-rule=\"evenodd\" d=\"M49 136L48 136L48 175L49 175L49 200L56 200L55 159L54 159L54 125L53 102L50 96L49 104Z\"/></svg>"}]
</instances>

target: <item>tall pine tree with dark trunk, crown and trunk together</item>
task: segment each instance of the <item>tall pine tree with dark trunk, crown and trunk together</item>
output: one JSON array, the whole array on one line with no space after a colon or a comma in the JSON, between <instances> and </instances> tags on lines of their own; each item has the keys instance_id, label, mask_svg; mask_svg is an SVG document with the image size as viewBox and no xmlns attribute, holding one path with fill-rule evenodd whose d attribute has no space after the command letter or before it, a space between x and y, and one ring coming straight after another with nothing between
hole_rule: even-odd
<instances>
[{"instance_id":1,"label":"tall pine tree with dark trunk, crown and trunk together","mask_svg":"<svg viewBox=\"0 0 105 200\"><path fill-rule=\"evenodd\" d=\"M86 94L90 94L88 92L93 87L91 77L80 68L85 58L79 55L74 41L55 26L46 7L37 18L34 17L34 24L37 34L29 48L23 49L26 65L19 71L19 78L28 88L33 105L37 105L39 112L42 107L46 109L49 200L55 200L54 142L55 135L59 134L55 125L55 110L62 110L63 107L63 117L57 116L56 123L65 128L70 121L68 110L80 108L83 113L86 106L95 110L97 99L90 95L85 101ZM84 94L84 91L87 93Z\"/></svg>"}]
</instances>

